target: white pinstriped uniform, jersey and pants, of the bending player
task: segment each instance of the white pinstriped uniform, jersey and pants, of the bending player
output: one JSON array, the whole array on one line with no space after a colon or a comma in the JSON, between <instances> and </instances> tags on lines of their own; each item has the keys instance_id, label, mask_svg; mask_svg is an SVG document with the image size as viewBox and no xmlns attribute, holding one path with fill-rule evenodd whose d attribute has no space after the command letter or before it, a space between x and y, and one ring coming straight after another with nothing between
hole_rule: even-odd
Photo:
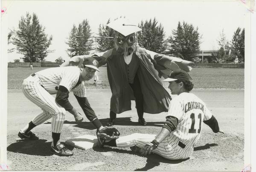
<instances>
[{"instance_id":1,"label":"white pinstriped uniform, jersey and pants, of the bending player","mask_svg":"<svg viewBox=\"0 0 256 172\"><path fill-rule=\"evenodd\" d=\"M66 110L55 102L52 95L57 93L59 86L64 86L69 92L73 91L74 95L86 97L84 82L76 86L79 71L76 66L49 68L36 72L23 81L24 95L43 110L32 123L38 126L52 118L52 132L61 133Z\"/></svg>"}]
</instances>

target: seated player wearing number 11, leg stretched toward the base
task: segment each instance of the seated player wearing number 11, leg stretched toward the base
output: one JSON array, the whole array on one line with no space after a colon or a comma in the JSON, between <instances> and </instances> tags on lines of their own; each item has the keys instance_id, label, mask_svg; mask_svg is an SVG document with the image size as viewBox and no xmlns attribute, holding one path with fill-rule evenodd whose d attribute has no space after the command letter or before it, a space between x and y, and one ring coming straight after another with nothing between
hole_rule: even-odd
<instances>
[{"instance_id":1,"label":"seated player wearing number 11, leg stretched toward the base","mask_svg":"<svg viewBox=\"0 0 256 172\"><path fill-rule=\"evenodd\" d=\"M196 95L189 93L193 89L189 74L181 69L175 70L164 81L174 97L170 103L166 122L158 135L134 133L117 139L99 137L100 147L131 147L141 155L154 152L170 160L186 159L193 153L202 131L202 121L213 132L224 133L219 129L218 121L207 109L205 103Z\"/></svg>"}]
</instances>

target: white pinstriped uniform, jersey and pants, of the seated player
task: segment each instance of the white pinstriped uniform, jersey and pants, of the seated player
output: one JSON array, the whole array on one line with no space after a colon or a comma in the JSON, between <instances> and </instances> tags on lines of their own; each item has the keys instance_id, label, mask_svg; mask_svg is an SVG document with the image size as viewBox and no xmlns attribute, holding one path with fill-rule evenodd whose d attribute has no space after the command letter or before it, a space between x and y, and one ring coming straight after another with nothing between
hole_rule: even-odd
<instances>
[{"instance_id":1,"label":"white pinstriped uniform, jersey and pants, of the seated player","mask_svg":"<svg viewBox=\"0 0 256 172\"><path fill-rule=\"evenodd\" d=\"M172 99L167 116L178 119L177 128L153 152L170 160L189 158L200 137L202 120L209 120L212 113L196 95L183 92ZM135 133L116 139L116 146L143 147L155 137L156 135Z\"/></svg>"}]
</instances>

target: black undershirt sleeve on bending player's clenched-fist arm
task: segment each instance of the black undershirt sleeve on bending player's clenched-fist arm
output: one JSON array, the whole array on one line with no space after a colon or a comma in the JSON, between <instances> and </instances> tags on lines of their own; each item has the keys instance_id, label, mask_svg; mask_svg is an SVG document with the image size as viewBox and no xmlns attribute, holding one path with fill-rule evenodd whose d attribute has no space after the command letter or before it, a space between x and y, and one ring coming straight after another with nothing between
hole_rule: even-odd
<instances>
[{"instance_id":1,"label":"black undershirt sleeve on bending player's clenched-fist arm","mask_svg":"<svg viewBox=\"0 0 256 172\"><path fill-rule=\"evenodd\" d=\"M68 100L69 91L64 86L59 86L58 92L55 98L55 101L61 105L66 111L70 111L73 109L73 106L70 104Z\"/></svg>"}]
</instances>

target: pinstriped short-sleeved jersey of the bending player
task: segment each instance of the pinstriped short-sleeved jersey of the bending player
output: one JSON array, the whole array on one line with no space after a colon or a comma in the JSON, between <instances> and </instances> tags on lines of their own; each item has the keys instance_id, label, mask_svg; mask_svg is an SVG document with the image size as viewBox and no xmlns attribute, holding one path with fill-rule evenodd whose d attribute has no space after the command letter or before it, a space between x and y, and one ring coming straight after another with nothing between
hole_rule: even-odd
<instances>
[{"instance_id":1,"label":"pinstriped short-sleeved jersey of the bending player","mask_svg":"<svg viewBox=\"0 0 256 172\"><path fill-rule=\"evenodd\" d=\"M84 82L76 86L80 69L76 66L56 67L44 69L35 73L41 81L41 85L49 94L56 94L59 86L64 86L69 92L78 97L86 97Z\"/></svg>"}]
</instances>

